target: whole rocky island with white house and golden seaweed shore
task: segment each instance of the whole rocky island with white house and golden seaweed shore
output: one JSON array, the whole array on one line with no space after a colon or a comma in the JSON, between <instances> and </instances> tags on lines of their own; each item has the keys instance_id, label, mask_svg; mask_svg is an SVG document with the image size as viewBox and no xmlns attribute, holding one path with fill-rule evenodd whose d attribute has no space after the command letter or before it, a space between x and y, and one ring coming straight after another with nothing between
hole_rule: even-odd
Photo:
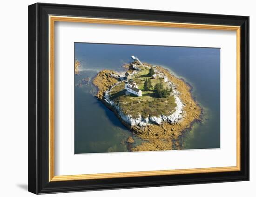
<instances>
[{"instance_id":1,"label":"whole rocky island with white house and golden seaweed shore","mask_svg":"<svg viewBox=\"0 0 256 197\"><path fill-rule=\"evenodd\" d=\"M93 79L96 97L145 142L131 151L180 149L179 136L201 120L192 87L161 66L133 62L126 72L102 70ZM128 139L129 143L133 139Z\"/></svg>"}]
</instances>

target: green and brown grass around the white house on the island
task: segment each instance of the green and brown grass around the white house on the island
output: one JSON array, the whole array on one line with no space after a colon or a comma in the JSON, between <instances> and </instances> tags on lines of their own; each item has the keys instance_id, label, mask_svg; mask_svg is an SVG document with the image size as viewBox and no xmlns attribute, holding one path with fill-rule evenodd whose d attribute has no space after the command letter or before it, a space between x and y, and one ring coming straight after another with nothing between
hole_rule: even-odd
<instances>
[{"instance_id":1,"label":"green and brown grass around the white house on the island","mask_svg":"<svg viewBox=\"0 0 256 197\"><path fill-rule=\"evenodd\" d=\"M141 114L142 117L157 116L160 114L168 115L176 107L175 98L168 96L168 98L156 98L153 92L144 91L144 82L148 76L149 69L142 68L134 78L132 78L142 91L142 96L125 95L124 82L116 85L110 92L110 99L120 106L125 114L130 114L133 117L138 117ZM162 79L151 79L151 83L154 86L156 83L161 82ZM163 83L164 87L167 84Z\"/></svg>"}]
</instances>

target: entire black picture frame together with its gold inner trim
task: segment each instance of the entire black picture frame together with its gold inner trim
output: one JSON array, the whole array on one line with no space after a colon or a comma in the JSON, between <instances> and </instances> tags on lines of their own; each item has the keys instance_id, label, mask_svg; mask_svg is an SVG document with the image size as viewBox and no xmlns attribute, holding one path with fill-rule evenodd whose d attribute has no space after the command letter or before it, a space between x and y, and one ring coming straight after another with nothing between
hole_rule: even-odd
<instances>
[{"instance_id":1,"label":"entire black picture frame together with its gold inner trim","mask_svg":"<svg viewBox=\"0 0 256 197\"><path fill-rule=\"evenodd\" d=\"M55 174L54 28L57 22L236 32L236 98L233 98L236 99L236 165ZM249 180L248 16L35 3L28 6L28 54L28 191L43 194Z\"/></svg>"}]
</instances>

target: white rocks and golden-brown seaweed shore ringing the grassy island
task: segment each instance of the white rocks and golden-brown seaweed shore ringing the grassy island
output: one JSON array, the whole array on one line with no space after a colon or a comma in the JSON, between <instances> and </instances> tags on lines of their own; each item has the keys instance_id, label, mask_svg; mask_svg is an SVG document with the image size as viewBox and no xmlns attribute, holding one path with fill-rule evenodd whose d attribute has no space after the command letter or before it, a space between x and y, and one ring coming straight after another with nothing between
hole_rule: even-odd
<instances>
[{"instance_id":1,"label":"white rocks and golden-brown seaweed shore ringing the grassy island","mask_svg":"<svg viewBox=\"0 0 256 197\"><path fill-rule=\"evenodd\" d=\"M173 89L172 94L175 97L176 107L175 111L169 115L133 118L129 114L124 114L119 106L109 98L109 92L115 85L121 83L122 76L112 70L102 70L93 80L94 85L98 88L96 97L111 109L126 127L147 141L132 148L132 151L180 149L178 137L182 135L183 131L192 127L195 121L201 119L202 108L193 99L191 86L160 66L156 66L154 69L168 83L168 87Z\"/></svg>"}]
</instances>

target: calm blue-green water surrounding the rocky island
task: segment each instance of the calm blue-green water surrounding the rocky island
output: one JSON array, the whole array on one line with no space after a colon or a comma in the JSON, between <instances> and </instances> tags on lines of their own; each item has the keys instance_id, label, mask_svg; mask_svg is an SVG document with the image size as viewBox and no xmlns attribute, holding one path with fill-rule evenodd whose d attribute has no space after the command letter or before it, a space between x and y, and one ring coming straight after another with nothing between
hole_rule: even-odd
<instances>
[{"instance_id":1,"label":"calm blue-green water surrounding the rocky island","mask_svg":"<svg viewBox=\"0 0 256 197\"><path fill-rule=\"evenodd\" d=\"M103 69L122 71L131 55L142 62L161 65L184 78L193 87L195 100L203 107L203 123L195 123L181 138L183 149L220 148L220 49L75 43L75 59L82 64L82 78ZM75 87L75 153L126 152L132 133L94 94L94 85ZM135 145L141 140L135 138Z\"/></svg>"}]
</instances>

